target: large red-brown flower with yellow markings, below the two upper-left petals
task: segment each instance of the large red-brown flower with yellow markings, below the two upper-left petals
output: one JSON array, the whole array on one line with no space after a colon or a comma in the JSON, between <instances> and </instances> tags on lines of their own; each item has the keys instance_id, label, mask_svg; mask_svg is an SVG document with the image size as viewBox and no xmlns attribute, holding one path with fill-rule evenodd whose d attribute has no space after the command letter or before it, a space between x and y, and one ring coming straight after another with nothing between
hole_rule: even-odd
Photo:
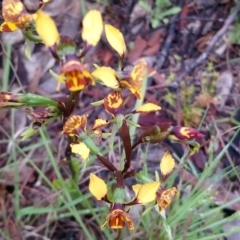
<instances>
[{"instance_id":1,"label":"large red-brown flower with yellow markings, below the two upper-left petals","mask_svg":"<svg viewBox=\"0 0 240 240\"><path fill-rule=\"evenodd\" d=\"M83 90L89 84L94 85L92 75L75 55L66 57L61 68L61 77L65 78L66 87L72 92Z\"/></svg>"}]
</instances>

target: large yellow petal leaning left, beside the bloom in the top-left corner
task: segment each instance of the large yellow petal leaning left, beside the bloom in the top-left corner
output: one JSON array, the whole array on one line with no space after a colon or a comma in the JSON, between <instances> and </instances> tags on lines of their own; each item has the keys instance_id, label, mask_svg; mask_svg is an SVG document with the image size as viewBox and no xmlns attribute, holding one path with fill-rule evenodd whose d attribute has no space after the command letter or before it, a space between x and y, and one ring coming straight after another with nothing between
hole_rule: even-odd
<instances>
[{"instance_id":1,"label":"large yellow petal leaning left, beside the bloom in the top-left corner","mask_svg":"<svg viewBox=\"0 0 240 240\"><path fill-rule=\"evenodd\" d=\"M37 11L36 31L47 47L52 47L60 40L55 22L41 9Z\"/></svg>"}]
</instances>

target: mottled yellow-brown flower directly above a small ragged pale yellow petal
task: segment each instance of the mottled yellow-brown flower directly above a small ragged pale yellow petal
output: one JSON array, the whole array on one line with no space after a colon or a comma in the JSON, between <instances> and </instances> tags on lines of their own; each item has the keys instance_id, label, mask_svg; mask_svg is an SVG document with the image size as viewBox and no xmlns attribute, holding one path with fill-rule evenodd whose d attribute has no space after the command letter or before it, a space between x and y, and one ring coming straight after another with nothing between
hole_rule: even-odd
<instances>
[{"instance_id":1,"label":"mottled yellow-brown flower directly above a small ragged pale yellow petal","mask_svg":"<svg viewBox=\"0 0 240 240\"><path fill-rule=\"evenodd\" d=\"M80 131L86 132L87 126L87 115L78 116L73 115L70 116L63 126L62 134L66 135L78 135Z\"/></svg>"}]
</instances>

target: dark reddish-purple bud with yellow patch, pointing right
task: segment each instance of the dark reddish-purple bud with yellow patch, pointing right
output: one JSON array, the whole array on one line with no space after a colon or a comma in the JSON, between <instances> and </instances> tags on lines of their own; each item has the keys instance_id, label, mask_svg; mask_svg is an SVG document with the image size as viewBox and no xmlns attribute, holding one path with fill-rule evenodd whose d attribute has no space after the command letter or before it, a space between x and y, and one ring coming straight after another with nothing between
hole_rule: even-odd
<instances>
[{"instance_id":1,"label":"dark reddish-purple bud with yellow patch, pointing right","mask_svg":"<svg viewBox=\"0 0 240 240\"><path fill-rule=\"evenodd\" d=\"M202 138L204 135L194 128L174 126L168 137L176 141L188 141Z\"/></svg>"}]
</instances>

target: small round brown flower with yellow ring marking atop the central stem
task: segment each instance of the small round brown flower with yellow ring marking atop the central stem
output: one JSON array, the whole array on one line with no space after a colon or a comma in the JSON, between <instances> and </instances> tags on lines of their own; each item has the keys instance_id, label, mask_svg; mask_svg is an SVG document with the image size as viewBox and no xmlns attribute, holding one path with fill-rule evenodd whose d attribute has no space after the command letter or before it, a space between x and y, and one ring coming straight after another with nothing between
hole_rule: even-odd
<instances>
[{"instance_id":1,"label":"small round brown flower with yellow ring marking atop the central stem","mask_svg":"<svg viewBox=\"0 0 240 240\"><path fill-rule=\"evenodd\" d=\"M104 98L104 108L113 117L123 111L123 98L120 92L112 92Z\"/></svg>"}]
</instances>

